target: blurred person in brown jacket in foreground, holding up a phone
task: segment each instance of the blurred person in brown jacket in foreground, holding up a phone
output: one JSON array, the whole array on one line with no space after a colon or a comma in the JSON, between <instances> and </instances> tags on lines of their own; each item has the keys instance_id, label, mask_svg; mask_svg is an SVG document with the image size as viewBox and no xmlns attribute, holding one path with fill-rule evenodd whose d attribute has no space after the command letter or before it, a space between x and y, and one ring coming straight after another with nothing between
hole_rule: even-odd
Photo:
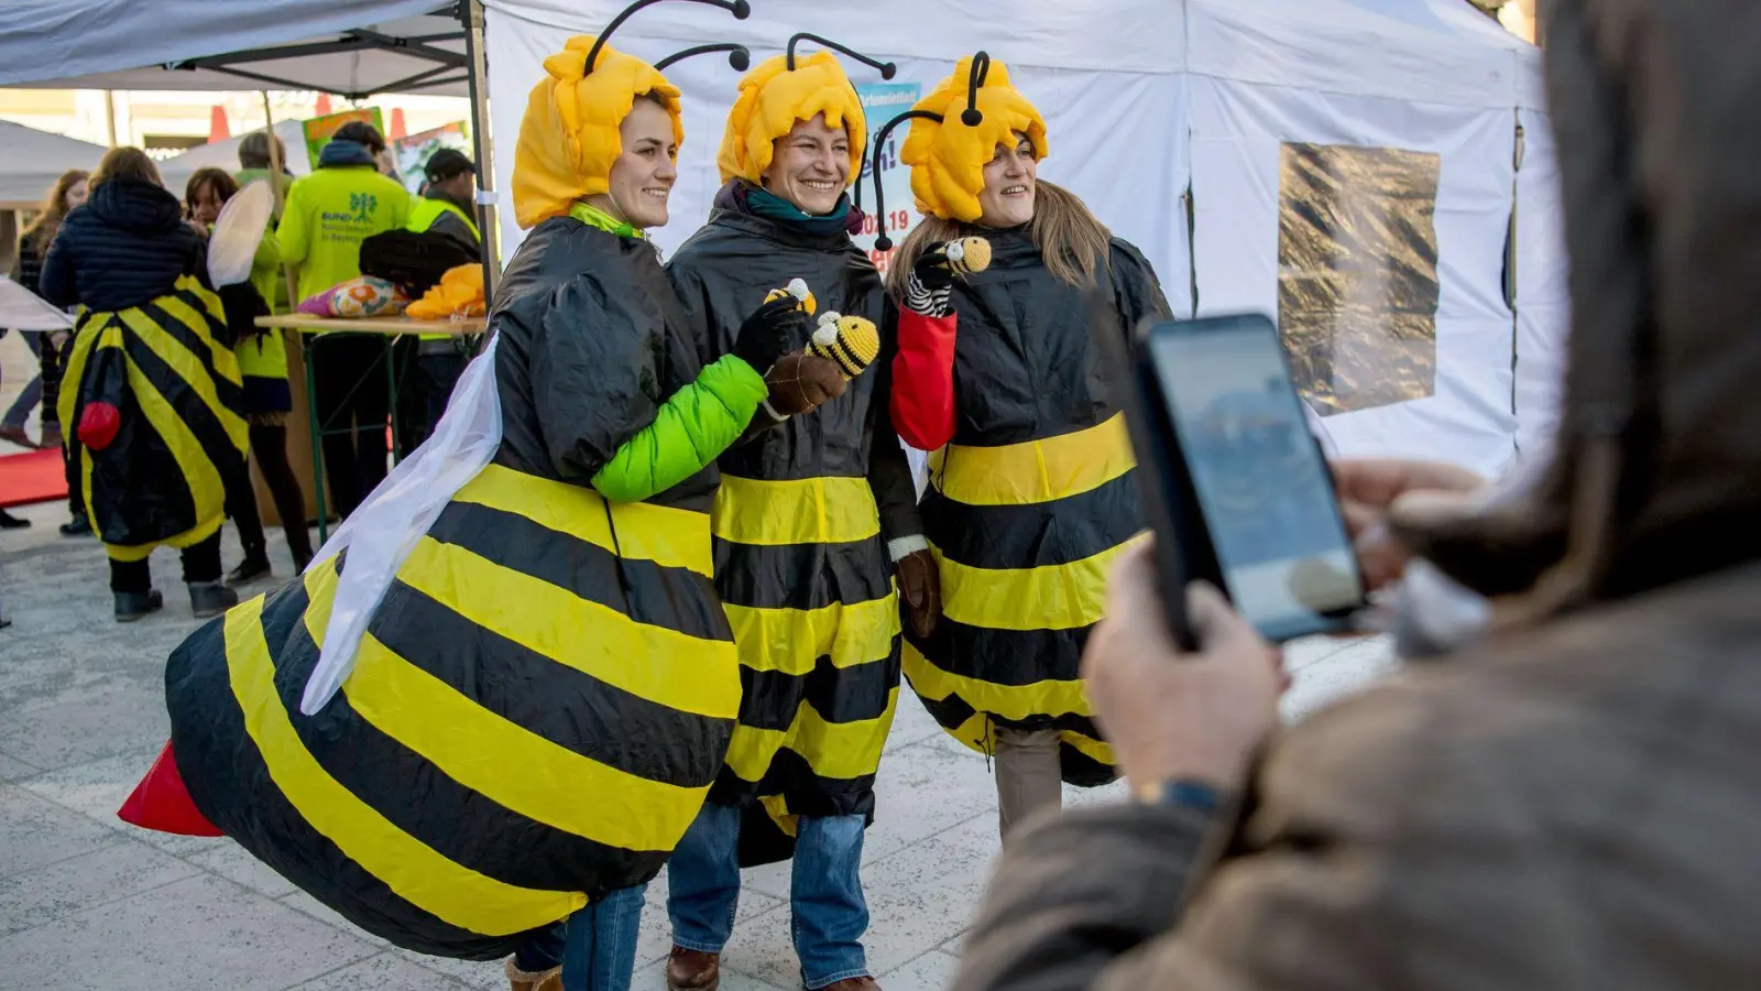
<instances>
[{"instance_id":1,"label":"blurred person in brown jacket in foreground, holding up a phone","mask_svg":"<svg viewBox=\"0 0 1761 991\"><path fill-rule=\"evenodd\" d=\"M956 987L1761 973L1761 11L1551 18L1574 305L1553 462L1474 496L1338 467L1367 573L1405 575L1404 633L1449 661L1280 732L1277 652L1199 587L1180 656L1132 554L1085 665L1134 801L1011 836ZM1477 631L1435 633L1451 587Z\"/></svg>"}]
</instances>

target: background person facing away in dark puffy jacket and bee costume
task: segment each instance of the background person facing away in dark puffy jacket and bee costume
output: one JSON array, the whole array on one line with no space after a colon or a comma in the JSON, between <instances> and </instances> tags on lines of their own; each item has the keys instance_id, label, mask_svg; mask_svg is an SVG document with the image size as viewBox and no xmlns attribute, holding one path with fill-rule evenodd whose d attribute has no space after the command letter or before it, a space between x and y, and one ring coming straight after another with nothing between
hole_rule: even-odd
<instances>
[{"instance_id":1,"label":"background person facing away in dark puffy jacket and bee costume","mask_svg":"<svg viewBox=\"0 0 1761 991\"><path fill-rule=\"evenodd\" d=\"M243 397L204 257L153 160L113 148L42 261L42 298L79 307L60 420L122 622L164 605L148 570L160 545L183 552L197 617L238 603L220 580L220 524L224 480L243 471Z\"/></svg>"}]
</instances>

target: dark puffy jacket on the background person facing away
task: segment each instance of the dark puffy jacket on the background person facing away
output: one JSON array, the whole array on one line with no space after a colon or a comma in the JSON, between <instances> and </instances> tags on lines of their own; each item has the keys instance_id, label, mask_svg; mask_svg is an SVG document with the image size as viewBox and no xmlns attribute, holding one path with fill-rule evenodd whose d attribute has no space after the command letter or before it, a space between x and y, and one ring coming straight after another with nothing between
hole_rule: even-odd
<instances>
[{"instance_id":1,"label":"dark puffy jacket on the background person facing away","mask_svg":"<svg viewBox=\"0 0 1761 991\"><path fill-rule=\"evenodd\" d=\"M42 261L41 294L56 307L125 310L194 273L203 236L178 197L150 182L113 178L62 222Z\"/></svg>"}]
</instances>

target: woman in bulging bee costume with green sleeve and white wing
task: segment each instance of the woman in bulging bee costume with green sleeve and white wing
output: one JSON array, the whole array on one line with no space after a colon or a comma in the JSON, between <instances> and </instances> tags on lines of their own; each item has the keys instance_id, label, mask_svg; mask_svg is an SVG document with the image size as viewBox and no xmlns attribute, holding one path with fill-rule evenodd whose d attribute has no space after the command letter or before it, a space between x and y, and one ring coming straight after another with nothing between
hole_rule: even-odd
<instances>
[{"instance_id":1,"label":"woman in bulging bee costume with green sleeve and white wing","mask_svg":"<svg viewBox=\"0 0 1761 991\"><path fill-rule=\"evenodd\" d=\"M678 90L604 35L544 72L486 353L301 580L173 654L169 753L125 815L206 820L402 947L604 991L726 755L713 462L807 317L761 307L704 365L643 236Z\"/></svg>"}]
</instances>

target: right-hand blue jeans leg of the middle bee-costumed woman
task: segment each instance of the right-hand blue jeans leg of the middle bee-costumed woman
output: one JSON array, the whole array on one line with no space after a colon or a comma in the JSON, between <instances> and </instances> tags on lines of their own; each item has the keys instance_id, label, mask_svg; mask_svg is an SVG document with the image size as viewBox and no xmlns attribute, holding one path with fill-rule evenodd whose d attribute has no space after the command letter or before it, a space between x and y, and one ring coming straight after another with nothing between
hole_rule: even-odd
<instances>
[{"instance_id":1,"label":"right-hand blue jeans leg of the middle bee-costumed woman","mask_svg":"<svg viewBox=\"0 0 1761 991\"><path fill-rule=\"evenodd\" d=\"M789 887L794 913L794 954L810 989L851 977L868 977L863 933L863 816L801 816Z\"/></svg>"}]
</instances>

